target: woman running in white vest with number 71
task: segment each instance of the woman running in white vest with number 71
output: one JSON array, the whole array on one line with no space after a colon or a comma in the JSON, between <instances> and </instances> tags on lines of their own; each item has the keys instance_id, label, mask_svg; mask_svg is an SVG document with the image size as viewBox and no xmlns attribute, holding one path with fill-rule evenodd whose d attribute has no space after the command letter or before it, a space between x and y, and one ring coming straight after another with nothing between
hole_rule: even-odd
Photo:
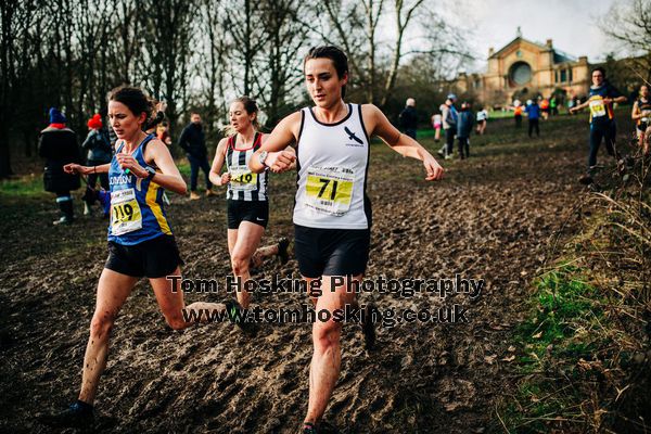
<instances>
[{"instance_id":1,"label":"woman running in white vest with number 71","mask_svg":"<svg viewBox=\"0 0 651 434\"><path fill-rule=\"evenodd\" d=\"M348 279L361 280L369 257L371 204L366 183L370 137L378 136L399 154L422 161L429 181L441 179L443 168L378 107L343 101L348 60L339 48L312 48L305 58L304 73L315 106L282 119L248 166L258 174L267 168L280 173L297 159L294 251L307 284L321 279L317 310L332 312L357 303L355 293L346 292L346 284ZM282 151L291 143L296 143L295 156ZM335 284L342 280L343 284ZM374 330L368 310L365 314L362 329L367 346L372 346ZM316 432L339 378L341 329L342 323L333 320L312 324L306 434Z\"/></svg>"}]
</instances>

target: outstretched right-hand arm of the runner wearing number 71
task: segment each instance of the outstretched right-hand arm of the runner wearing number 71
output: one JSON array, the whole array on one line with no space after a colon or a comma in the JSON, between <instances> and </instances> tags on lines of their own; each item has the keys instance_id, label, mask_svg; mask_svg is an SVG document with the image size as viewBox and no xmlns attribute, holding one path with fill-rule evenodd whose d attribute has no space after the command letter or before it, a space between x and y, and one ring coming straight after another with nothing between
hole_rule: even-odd
<instances>
[{"instance_id":1,"label":"outstretched right-hand arm of the runner wearing number 71","mask_svg":"<svg viewBox=\"0 0 651 434\"><path fill-rule=\"evenodd\" d=\"M425 166L427 181L443 178L443 167L436 159L409 136L400 133L396 127L391 125L384 113L373 104L361 106L363 124L368 126L369 136L378 136L403 156L420 159Z\"/></svg>"}]
</instances>

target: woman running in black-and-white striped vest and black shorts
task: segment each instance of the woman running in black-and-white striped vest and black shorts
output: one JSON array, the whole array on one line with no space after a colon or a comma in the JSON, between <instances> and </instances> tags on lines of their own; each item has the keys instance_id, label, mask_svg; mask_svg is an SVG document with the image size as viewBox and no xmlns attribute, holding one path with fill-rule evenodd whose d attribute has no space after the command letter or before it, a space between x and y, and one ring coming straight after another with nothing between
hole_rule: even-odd
<instances>
[{"instance_id":1,"label":"woman running in black-and-white striped vest and black shorts","mask_svg":"<svg viewBox=\"0 0 651 434\"><path fill-rule=\"evenodd\" d=\"M210 168L214 184L228 184L228 251L233 275L241 278L242 285L251 279L251 266L258 267L265 257L279 255L282 263L288 260L286 239L257 248L269 221L268 174L254 174L247 165L267 138L258 132L257 113L257 104L248 97L231 103L230 128L234 133L219 141ZM227 171L221 174L225 164ZM238 303L247 308L251 296L242 285L237 294Z\"/></svg>"}]
</instances>

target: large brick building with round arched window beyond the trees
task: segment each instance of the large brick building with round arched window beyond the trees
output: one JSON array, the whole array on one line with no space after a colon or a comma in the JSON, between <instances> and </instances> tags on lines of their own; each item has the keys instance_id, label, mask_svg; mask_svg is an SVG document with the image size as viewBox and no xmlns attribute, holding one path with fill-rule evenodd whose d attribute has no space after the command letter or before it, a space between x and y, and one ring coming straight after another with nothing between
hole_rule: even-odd
<instances>
[{"instance_id":1,"label":"large brick building with round arched window beyond the trees","mask_svg":"<svg viewBox=\"0 0 651 434\"><path fill-rule=\"evenodd\" d=\"M587 56L578 59L552 46L524 39L519 35L499 51L488 50L485 74L460 74L457 88L460 93L474 93L485 103L505 104L513 97L541 94L549 98L554 90L569 97L587 93L590 86L590 66Z\"/></svg>"}]
</instances>

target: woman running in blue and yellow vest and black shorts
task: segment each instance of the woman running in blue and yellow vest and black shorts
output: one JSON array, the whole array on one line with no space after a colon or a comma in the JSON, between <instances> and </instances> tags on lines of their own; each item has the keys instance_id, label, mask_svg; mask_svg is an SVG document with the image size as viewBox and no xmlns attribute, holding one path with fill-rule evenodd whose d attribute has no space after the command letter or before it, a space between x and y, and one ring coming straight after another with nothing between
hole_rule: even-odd
<instances>
[{"instance_id":1,"label":"woman running in blue and yellow vest and black shorts","mask_svg":"<svg viewBox=\"0 0 651 434\"><path fill-rule=\"evenodd\" d=\"M191 326L183 309L224 309L221 304L194 303L186 308L180 279L182 260L163 207L164 189L186 194L186 182L167 146L142 131L151 117L153 103L141 89L120 87L108 97L108 117L115 130L116 155L110 164L68 164L68 174L108 174L111 225L108 259L100 276L95 310L84 356L84 373L78 400L68 409L46 416L51 426L84 426L92 423L93 401L100 376L106 367L108 339L120 307L142 277L156 295L165 320L175 330ZM173 282L176 281L176 288Z\"/></svg>"}]
</instances>

